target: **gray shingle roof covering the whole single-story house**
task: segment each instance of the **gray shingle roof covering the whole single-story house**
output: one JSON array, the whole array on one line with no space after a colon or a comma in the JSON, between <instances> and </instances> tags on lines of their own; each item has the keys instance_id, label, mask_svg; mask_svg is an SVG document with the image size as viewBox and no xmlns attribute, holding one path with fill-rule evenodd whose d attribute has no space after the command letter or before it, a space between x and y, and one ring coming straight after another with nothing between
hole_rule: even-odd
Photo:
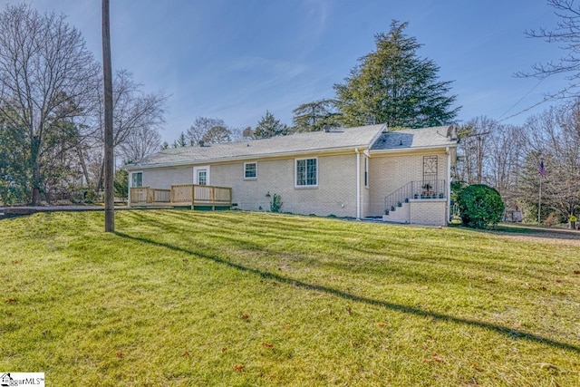
<instances>
[{"instance_id":1,"label":"gray shingle roof covering the whole single-story house","mask_svg":"<svg viewBox=\"0 0 580 387\"><path fill-rule=\"evenodd\" d=\"M333 131L313 131L295 133L288 136L278 136L271 139L246 140L212 144L207 147L184 147L162 150L152 154L128 169L155 168L173 165L193 165L224 160L252 160L293 155L308 152L324 152L325 150L344 150L368 148L373 140L378 140L372 150L387 150L396 148L414 148L422 146L449 145L445 137L448 127L427 128L419 130L404 130L382 133L384 124L368 125L356 128L341 128ZM442 133L440 136L437 133ZM399 145L402 141L402 146Z\"/></svg>"}]
</instances>

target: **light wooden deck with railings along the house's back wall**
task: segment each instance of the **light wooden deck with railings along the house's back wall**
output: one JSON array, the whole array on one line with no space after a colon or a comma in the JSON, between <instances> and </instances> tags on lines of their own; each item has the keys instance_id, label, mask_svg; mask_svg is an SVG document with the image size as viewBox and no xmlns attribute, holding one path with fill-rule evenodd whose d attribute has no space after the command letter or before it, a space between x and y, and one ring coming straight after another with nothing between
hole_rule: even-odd
<instances>
[{"instance_id":1,"label":"light wooden deck with railings along the house's back wall","mask_svg":"<svg viewBox=\"0 0 580 387\"><path fill-rule=\"evenodd\" d=\"M229 209L232 207L232 189L198 184L179 184L171 186L171 189L132 187L129 206L131 208Z\"/></svg>"}]
</instances>

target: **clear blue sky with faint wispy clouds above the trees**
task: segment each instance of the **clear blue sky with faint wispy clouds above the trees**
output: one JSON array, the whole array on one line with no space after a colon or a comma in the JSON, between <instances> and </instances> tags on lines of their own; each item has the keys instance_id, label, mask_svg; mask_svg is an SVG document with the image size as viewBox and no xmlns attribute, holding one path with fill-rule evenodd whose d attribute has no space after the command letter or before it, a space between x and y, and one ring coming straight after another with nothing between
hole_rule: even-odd
<instances>
[{"instance_id":1,"label":"clear blue sky with faint wispy clouds above the trees","mask_svg":"<svg viewBox=\"0 0 580 387\"><path fill-rule=\"evenodd\" d=\"M27 3L68 15L101 61L101 1ZM440 66L441 81L454 81L459 121L505 120L567 85L513 76L563 54L524 34L556 26L542 0L111 0L112 65L169 96L161 133L169 142L198 116L245 128L267 110L290 125L298 105L334 96L333 84L393 19L410 23L420 56ZM504 122L521 124L547 106Z\"/></svg>"}]
</instances>

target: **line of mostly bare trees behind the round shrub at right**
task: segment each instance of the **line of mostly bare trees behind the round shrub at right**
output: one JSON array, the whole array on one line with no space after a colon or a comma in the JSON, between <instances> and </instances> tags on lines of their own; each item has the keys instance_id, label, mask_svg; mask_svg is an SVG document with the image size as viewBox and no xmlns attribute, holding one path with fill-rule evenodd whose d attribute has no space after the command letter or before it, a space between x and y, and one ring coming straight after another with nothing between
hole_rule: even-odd
<instances>
[{"instance_id":1,"label":"line of mostly bare trees behind the round shrub at right","mask_svg":"<svg viewBox=\"0 0 580 387\"><path fill-rule=\"evenodd\" d=\"M537 221L540 179L541 222L565 222L580 210L580 100L550 107L521 126L473 119L459 128L458 153L454 179L498 189L507 220Z\"/></svg>"}]
</instances>

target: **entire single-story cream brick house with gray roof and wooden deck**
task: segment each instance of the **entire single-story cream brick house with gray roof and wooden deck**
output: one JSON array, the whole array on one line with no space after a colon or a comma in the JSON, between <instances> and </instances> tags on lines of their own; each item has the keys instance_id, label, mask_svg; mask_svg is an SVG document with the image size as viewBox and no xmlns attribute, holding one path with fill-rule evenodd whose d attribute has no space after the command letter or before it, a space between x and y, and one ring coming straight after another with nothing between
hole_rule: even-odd
<instances>
[{"instance_id":1,"label":"entire single-story cream brick house with gray roof and wooden deck","mask_svg":"<svg viewBox=\"0 0 580 387\"><path fill-rule=\"evenodd\" d=\"M453 126L368 125L163 150L131 164L131 206L211 206L445 225ZM205 189L205 190L204 190Z\"/></svg>"}]
</instances>

